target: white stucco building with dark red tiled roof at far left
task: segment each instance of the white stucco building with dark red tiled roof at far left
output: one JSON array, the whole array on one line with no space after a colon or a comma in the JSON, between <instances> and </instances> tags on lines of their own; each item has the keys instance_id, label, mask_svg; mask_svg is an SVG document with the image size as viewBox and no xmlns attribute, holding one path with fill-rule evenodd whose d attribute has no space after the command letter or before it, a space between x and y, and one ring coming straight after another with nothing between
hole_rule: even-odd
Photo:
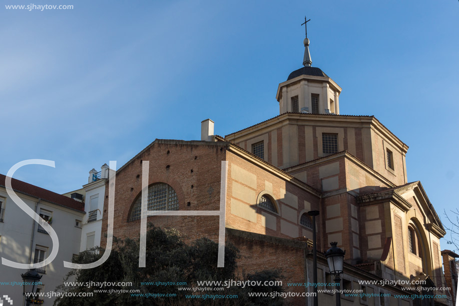
<instances>
[{"instance_id":1,"label":"white stucco building with dark red tiled roof at far left","mask_svg":"<svg viewBox=\"0 0 459 306\"><path fill-rule=\"evenodd\" d=\"M54 245L46 228L26 214L8 195L6 176L0 174L0 256L19 263L37 263L51 253ZM84 204L55 192L13 179L16 194L32 210L48 221L59 238L59 251L52 263L36 269L42 274L39 292L52 292L62 283L70 271L63 261L72 261L80 251L82 221L86 219ZM22 282L18 269L0 265L0 282ZM15 305L24 304L23 286L1 285L0 296L8 295ZM55 298L44 298L45 305L52 305Z\"/></svg>"}]
</instances>

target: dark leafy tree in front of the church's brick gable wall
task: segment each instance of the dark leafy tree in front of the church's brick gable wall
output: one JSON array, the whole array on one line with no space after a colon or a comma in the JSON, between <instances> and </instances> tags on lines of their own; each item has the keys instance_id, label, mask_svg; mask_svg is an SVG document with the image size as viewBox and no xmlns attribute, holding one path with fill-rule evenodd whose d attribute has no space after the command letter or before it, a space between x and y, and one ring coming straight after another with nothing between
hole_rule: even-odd
<instances>
[{"instance_id":1,"label":"dark leafy tree in front of the church's brick gable wall","mask_svg":"<svg viewBox=\"0 0 459 306\"><path fill-rule=\"evenodd\" d=\"M99 259L104 250L94 248L78 254L74 261L90 263ZM237 274L239 250L231 243L225 245L225 267L217 267L218 244L208 238L197 239L190 245L184 243L176 230L162 230L149 224L147 231L146 267L139 268L139 241L114 238L109 259L93 269L74 269L70 271L63 284L56 291L91 292L87 297L58 297L54 305L103 306L103 305L282 305L282 298L250 297L249 292L282 291L281 286L208 286L205 291L198 289L197 282L225 280L278 280L281 275L277 270L264 270L244 275ZM78 282L71 285L67 281ZM124 286L107 282L132 283ZM169 282L168 285L163 285ZM186 285L177 284L186 282ZM102 287L98 286L105 284ZM184 290L185 289L185 290ZM188 289L188 290L186 290ZM103 292L100 292L100 291ZM122 293L119 290L127 290ZM118 290L118 291L115 291ZM129 292L136 290L136 292ZM138 291L137 291L138 290ZM146 297L147 294L163 294ZM167 296L167 294L175 294ZM198 294L237 295L238 298L193 298ZM142 296L144 295L144 296ZM195 295L195 296L191 296Z\"/></svg>"}]
</instances>

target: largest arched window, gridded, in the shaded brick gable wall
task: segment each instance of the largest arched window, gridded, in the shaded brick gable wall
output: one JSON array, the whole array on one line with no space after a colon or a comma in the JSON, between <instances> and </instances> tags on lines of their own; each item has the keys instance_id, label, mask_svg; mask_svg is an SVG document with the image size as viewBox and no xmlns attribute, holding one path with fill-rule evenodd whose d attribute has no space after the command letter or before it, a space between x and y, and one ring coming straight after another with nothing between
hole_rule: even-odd
<instances>
[{"instance_id":1,"label":"largest arched window, gridded, in the shaded brick gable wall","mask_svg":"<svg viewBox=\"0 0 459 306\"><path fill-rule=\"evenodd\" d=\"M179 210L177 193L166 183L155 183L148 187L147 210ZM137 197L129 221L142 217L142 194Z\"/></svg>"}]
</instances>

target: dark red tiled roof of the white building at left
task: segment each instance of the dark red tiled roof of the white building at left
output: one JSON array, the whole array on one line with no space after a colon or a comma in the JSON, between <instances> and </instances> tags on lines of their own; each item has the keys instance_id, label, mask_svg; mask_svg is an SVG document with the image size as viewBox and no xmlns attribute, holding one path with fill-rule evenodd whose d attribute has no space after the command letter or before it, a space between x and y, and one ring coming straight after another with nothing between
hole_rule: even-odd
<instances>
[{"instance_id":1,"label":"dark red tiled roof of the white building at left","mask_svg":"<svg viewBox=\"0 0 459 306\"><path fill-rule=\"evenodd\" d=\"M5 179L6 175L0 174L0 186L6 188ZM54 203L60 206L75 209L81 212L85 212L85 204L75 201L72 198L66 197L65 195L17 180L13 178L11 185L16 192L20 192L26 195L30 195L36 198L43 199L47 202Z\"/></svg>"}]
</instances>

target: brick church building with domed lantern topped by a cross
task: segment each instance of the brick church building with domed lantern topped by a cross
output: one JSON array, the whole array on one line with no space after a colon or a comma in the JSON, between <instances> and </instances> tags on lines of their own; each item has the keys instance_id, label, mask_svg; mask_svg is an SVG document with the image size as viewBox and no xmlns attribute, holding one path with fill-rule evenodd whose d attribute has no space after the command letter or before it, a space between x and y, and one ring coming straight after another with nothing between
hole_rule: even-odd
<instances>
[{"instance_id":1,"label":"brick church building with domed lantern topped by a cross","mask_svg":"<svg viewBox=\"0 0 459 306\"><path fill-rule=\"evenodd\" d=\"M284 289L312 292L287 282L312 282L312 219L316 217L318 281L332 282L323 255L330 242L346 251L342 289L371 297L341 295L342 305L452 305L454 290L424 294L443 298L395 298L419 294L383 280L426 280L426 287L448 283L442 252L445 230L419 181L408 181L408 146L374 116L340 114L341 87L312 67L304 40L303 67L277 88L279 114L250 127L215 135L214 122L202 122L200 141L156 139L116 173L114 236L139 238L142 164L149 161L148 210L221 211L217 215L150 216L187 239L209 237L236 245L241 270L282 269ZM105 194L109 184L106 184ZM107 230L105 198L102 230ZM102 234L102 237L104 235ZM106 239L106 238L105 238ZM102 245L105 241L102 238ZM216 259L217 260L217 259ZM448 275L454 264L444 263ZM373 284L361 284L370 280ZM390 295L390 296L389 296ZM319 304L334 304L319 293ZM289 297L294 305L312 305L312 297Z\"/></svg>"}]
</instances>

